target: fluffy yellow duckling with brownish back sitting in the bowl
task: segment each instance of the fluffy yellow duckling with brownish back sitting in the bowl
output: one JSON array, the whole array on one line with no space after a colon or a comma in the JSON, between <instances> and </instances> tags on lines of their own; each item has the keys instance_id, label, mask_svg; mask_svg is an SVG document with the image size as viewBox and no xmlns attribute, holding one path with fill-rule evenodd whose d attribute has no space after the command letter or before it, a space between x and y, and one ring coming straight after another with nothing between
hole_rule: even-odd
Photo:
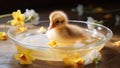
<instances>
[{"instance_id":1,"label":"fluffy yellow duckling with brownish back sitting in the bowl","mask_svg":"<svg viewBox=\"0 0 120 68\"><path fill-rule=\"evenodd\" d=\"M61 45L74 45L87 38L83 29L77 25L69 24L68 17L63 11L53 11L49 16L50 24L47 37Z\"/></svg>"}]
</instances>

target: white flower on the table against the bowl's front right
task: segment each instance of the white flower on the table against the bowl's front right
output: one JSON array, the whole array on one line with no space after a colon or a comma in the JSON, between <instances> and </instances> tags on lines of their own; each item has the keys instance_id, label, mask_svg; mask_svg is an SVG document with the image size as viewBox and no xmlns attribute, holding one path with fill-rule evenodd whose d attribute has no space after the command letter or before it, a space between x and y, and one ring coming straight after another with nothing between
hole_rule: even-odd
<instances>
[{"instance_id":1,"label":"white flower on the table against the bowl's front right","mask_svg":"<svg viewBox=\"0 0 120 68\"><path fill-rule=\"evenodd\" d=\"M101 59L101 54L97 50L92 50L90 51L86 56L83 57L85 62L84 64L90 64L92 63L95 59L100 60Z\"/></svg>"}]
</instances>

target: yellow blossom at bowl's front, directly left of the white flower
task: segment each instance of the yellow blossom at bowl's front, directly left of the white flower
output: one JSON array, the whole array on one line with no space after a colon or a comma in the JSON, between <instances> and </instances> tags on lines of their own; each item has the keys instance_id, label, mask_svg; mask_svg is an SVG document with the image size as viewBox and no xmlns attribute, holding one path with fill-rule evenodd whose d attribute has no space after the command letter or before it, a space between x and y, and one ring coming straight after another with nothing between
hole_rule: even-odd
<instances>
[{"instance_id":1,"label":"yellow blossom at bowl's front, directly left of the white flower","mask_svg":"<svg viewBox=\"0 0 120 68\"><path fill-rule=\"evenodd\" d=\"M66 54L63 61L66 65L84 64L84 59L80 57L79 53Z\"/></svg>"}]
</instances>

